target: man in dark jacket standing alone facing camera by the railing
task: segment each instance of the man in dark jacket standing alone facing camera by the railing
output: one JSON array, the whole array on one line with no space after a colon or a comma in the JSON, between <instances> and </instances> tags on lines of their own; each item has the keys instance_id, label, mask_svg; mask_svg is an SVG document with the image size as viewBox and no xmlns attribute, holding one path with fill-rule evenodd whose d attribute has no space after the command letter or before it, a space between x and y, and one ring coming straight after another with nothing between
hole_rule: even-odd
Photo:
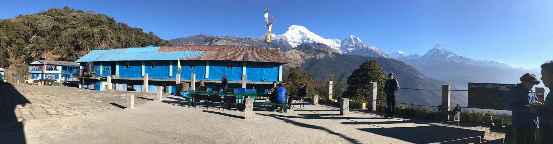
<instances>
[{"instance_id":1,"label":"man in dark jacket standing alone facing camera by the railing","mask_svg":"<svg viewBox=\"0 0 553 144\"><path fill-rule=\"evenodd\" d=\"M388 119L395 118L395 92L399 90L399 83L397 79L394 79L394 73L388 74L388 80L384 85L384 93L386 94L386 102L388 102Z\"/></svg>"}]
</instances>

